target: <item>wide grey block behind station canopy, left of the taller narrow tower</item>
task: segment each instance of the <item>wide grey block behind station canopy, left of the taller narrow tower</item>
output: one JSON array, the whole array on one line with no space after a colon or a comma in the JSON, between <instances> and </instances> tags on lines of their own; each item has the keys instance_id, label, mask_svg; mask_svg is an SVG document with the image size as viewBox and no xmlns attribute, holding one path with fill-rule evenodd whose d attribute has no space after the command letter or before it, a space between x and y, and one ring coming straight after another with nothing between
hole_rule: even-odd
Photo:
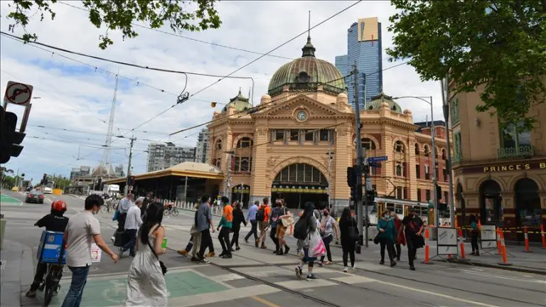
<instances>
[{"instance_id":1,"label":"wide grey block behind station canopy, left of the taller narrow tower","mask_svg":"<svg viewBox=\"0 0 546 307\"><path fill-rule=\"evenodd\" d=\"M178 147L172 143L148 145L148 171L161 171L182 162L196 159L195 147Z\"/></svg>"}]
</instances>

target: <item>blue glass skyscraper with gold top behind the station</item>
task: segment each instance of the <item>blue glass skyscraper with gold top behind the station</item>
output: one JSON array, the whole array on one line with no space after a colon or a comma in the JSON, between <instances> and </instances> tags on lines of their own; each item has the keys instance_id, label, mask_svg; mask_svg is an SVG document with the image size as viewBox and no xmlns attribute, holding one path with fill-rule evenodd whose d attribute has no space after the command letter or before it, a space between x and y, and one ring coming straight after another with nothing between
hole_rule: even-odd
<instances>
[{"instance_id":1,"label":"blue glass skyscraper with gold top behind the station","mask_svg":"<svg viewBox=\"0 0 546 307\"><path fill-rule=\"evenodd\" d=\"M381 47L381 23L377 17L359 18L347 30L347 54L336 56L336 68L342 75L348 75L357 65L359 106L365 108L365 102L379 95L383 87L382 74L382 47ZM362 74L366 75L366 87ZM346 77L348 98L351 105L355 105L355 93L353 76Z\"/></svg>"}]
</instances>

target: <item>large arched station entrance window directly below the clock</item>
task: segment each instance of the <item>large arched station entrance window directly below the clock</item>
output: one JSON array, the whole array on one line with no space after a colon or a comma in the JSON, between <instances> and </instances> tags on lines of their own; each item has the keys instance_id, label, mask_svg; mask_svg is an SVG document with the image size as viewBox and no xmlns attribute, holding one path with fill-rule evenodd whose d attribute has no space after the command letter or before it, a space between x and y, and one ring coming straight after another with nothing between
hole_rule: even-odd
<instances>
[{"instance_id":1,"label":"large arched station entrance window directly below the clock","mask_svg":"<svg viewBox=\"0 0 546 307\"><path fill-rule=\"evenodd\" d=\"M272 203L284 198L288 208L302 208L312 202L317 209L328 205L328 181L318 168L306 163L294 163L275 176L271 188Z\"/></svg>"}]
</instances>

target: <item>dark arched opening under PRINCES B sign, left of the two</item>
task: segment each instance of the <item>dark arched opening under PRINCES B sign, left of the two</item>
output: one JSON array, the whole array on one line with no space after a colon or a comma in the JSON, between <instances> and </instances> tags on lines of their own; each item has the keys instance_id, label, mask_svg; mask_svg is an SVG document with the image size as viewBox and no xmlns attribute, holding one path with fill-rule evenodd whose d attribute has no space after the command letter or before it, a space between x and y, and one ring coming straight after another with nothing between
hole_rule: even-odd
<instances>
[{"instance_id":1,"label":"dark arched opening under PRINCES B sign, left of the two","mask_svg":"<svg viewBox=\"0 0 546 307\"><path fill-rule=\"evenodd\" d=\"M483 224L498 225L502 217L501 185L491 179L480 185L481 222Z\"/></svg>"}]
</instances>

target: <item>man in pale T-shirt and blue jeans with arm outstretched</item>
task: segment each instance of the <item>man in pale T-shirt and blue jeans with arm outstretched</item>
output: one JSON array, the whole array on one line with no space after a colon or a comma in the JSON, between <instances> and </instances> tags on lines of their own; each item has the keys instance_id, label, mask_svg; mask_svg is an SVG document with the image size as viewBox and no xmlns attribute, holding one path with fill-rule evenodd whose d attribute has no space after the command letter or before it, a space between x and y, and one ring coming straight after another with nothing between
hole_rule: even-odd
<instances>
[{"instance_id":1,"label":"man in pale T-shirt and blue jeans with arm outstretched","mask_svg":"<svg viewBox=\"0 0 546 307\"><path fill-rule=\"evenodd\" d=\"M94 216L100 211L100 206L104 205L104 203L105 200L99 195L89 195L85 198L85 211L73 215L68 220L64 241L68 246L66 264L68 269L72 271L72 282L62 307L80 306L83 288L92 263L91 246L93 242L102 249L102 252L109 254L114 263L118 260L117 254L112 252L105 241L102 240L99 221Z\"/></svg>"}]
</instances>

